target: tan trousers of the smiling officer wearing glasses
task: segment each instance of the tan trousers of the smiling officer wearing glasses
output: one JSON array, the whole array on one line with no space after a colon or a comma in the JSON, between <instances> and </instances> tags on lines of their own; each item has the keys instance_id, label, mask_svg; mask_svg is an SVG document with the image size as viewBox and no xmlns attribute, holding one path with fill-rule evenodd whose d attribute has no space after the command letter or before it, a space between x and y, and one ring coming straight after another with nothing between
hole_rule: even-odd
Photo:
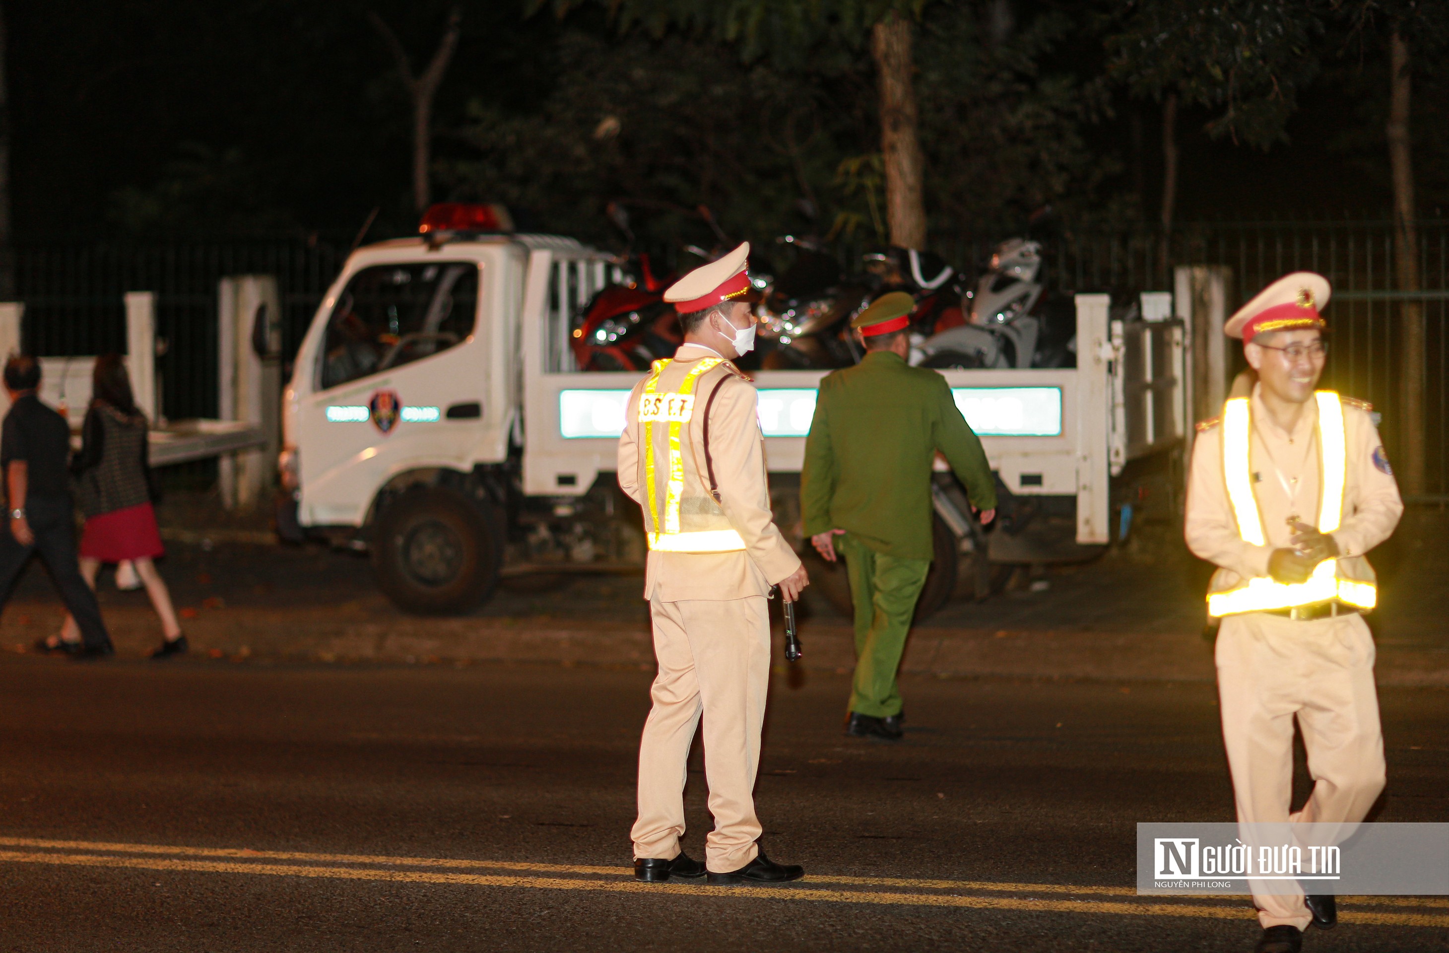
<instances>
[{"instance_id":1,"label":"tan trousers of the smiling officer wearing glasses","mask_svg":"<svg viewBox=\"0 0 1449 953\"><path fill-rule=\"evenodd\" d=\"M1374 639L1362 616L1294 621L1245 613L1223 618L1217 694L1240 824L1364 820L1384 789L1384 736ZM1301 811L1290 814L1294 715L1313 794ZM1311 920L1301 892L1255 891L1253 904L1264 927L1303 930Z\"/></svg>"}]
</instances>

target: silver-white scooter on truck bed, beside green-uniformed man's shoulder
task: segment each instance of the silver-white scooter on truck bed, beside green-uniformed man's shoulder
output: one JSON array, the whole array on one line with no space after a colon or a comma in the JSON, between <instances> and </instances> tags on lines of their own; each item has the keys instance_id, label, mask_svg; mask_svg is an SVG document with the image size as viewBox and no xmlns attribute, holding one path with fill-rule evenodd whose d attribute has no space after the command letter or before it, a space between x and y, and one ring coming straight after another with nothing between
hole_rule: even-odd
<instances>
[{"instance_id":1,"label":"silver-white scooter on truck bed, beside green-uniformed man's shoulder","mask_svg":"<svg viewBox=\"0 0 1449 953\"><path fill-rule=\"evenodd\" d=\"M991 255L991 269L966 291L961 310L969 323L951 327L911 349L926 368L1033 366L1042 322L1032 313L1042 297L1042 246L1009 239Z\"/></svg>"}]
</instances>

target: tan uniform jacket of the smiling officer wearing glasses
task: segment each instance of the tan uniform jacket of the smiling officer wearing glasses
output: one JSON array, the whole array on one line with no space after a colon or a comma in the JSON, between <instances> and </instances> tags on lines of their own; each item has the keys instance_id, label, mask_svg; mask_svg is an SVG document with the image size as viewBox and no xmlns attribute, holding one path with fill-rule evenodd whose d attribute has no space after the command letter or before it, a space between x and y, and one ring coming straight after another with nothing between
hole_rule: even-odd
<instances>
[{"instance_id":1,"label":"tan uniform jacket of the smiling officer wearing glasses","mask_svg":"<svg viewBox=\"0 0 1449 953\"><path fill-rule=\"evenodd\" d=\"M1291 546L1288 517L1304 523L1319 519L1319 406L1308 401L1298 426L1285 433L1268 417L1253 387L1249 468L1253 495L1262 514L1266 546L1243 542L1223 479L1223 433L1220 424L1204 427L1193 445L1193 469L1187 488L1185 536L1188 549L1219 566L1211 591L1223 592L1252 576L1268 575L1268 556ZM1353 579L1374 579L1364 555L1382 543L1398 526L1404 501L1384 456L1384 445L1368 410L1358 401L1343 401L1348 440L1348 478L1343 487L1343 517L1333 539L1339 545L1339 569Z\"/></svg>"}]
</instances>

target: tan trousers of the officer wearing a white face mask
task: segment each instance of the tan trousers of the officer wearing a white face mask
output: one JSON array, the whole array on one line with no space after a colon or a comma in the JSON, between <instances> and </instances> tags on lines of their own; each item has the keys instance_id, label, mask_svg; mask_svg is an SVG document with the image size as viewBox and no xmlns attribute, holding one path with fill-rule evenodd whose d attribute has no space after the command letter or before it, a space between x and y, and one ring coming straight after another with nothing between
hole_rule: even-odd
<instances>
[{"instance_id":1,"label":"tan trousers of the officer wearing a white face mask","mask_svg":"<svg viewBox=\"0 0 1449 953\"><path fill-rule=\"evenodd\" d=\"M659 673L639 742L635 857L674 859L684 836L684 782L694 730L704 715L704 778L714 830L704 862L716 873L755 859L759 731L769 691L769 611L764 595L739 600L651 600Z\"/></svg>"}]
</instances>

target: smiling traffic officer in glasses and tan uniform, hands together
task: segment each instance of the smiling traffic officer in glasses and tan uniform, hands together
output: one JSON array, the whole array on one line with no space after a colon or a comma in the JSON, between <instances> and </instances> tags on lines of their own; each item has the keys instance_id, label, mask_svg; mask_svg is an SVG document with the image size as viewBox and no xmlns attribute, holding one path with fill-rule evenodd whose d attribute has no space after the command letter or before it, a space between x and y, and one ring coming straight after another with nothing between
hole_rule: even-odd
<instances>
[{"instance_id":1,"label":"smiling traffic officer in glasses and tan uniform, hands together","mask_svg":"<svg viewBox=\"0 0 1449 953\"><path fill-rule=\"evenodd\" d=\"M1217 689L1239 824L1361 821L1384 788L1374 640L1377 587L1365 553L1388 539L1398 497L1368 404L1316 390L1329 282L1297 272L1227 322L1258 375L1248 397L1198 424L1187 545L1217 565L1207 608L1222 618ZM1293 724L1313 794L1290 814ZM1259 953L1295 953L1332 895L1249 882ZM1281 888L1279 888L1281 889Z\"/></svg>"}]
</instances>

